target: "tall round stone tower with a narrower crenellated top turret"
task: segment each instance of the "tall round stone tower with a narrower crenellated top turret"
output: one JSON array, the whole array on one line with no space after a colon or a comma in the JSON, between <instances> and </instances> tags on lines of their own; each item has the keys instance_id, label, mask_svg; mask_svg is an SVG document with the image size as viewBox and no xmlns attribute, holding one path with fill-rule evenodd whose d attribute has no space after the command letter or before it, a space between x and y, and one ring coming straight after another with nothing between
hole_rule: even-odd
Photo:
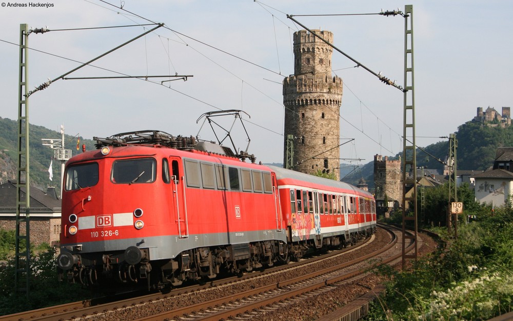
<instances>
[{"instance_id":1,"label":"tall round stone tower with a narrower crenellated top turret","mask_svg":"<svg viewBox=\"0 0 513 321\"><path fill-rule=\"evenodd\" d=\"M333 42L330 31L312 31ZM283 80L285 153L287 135L293 135L293 170L325 170L340 179L342 79L331 76L332 48L306 30L294 32L293 48L294 74Z\"/></svg>"}]
</instances>

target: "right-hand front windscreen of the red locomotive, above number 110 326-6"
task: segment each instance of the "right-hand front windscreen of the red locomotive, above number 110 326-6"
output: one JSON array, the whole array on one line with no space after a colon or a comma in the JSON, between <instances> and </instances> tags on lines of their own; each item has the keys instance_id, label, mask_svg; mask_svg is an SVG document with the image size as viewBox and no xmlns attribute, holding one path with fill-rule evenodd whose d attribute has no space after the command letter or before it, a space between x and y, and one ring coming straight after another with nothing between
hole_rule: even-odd
<instances>
[{"instance_id":1,"label":"right-hand front windscreen of the red locomotive, above number 110 326-6","mask_svg":"<svg viewBox=\"0 0 513 321\"><path fill-rule=\"evenodd\" d=\"M116 160L112 164L111 180L116 184L153 183L156 178L153 158Z\"/></svg>"}]
</instances>

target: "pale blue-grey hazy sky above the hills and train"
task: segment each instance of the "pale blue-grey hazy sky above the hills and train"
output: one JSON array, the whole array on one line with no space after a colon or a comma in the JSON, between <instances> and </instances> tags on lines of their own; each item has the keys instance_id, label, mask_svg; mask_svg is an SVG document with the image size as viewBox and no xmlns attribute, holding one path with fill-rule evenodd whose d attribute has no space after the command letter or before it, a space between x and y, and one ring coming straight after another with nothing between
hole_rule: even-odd
<instances>
[{"instance_id":1,"label":"pale blue-grey hazy sky above the hills and train","mask_svg":"<svg viewBox=\"0 0 513 321\"><path fill-rule=\"evenodd\" d=\"M244 127L219 117L216 134L231 129L236 149L282 163L282 81L294 72L292 34L303 29L287 15L331 31L334 46L403 86L404 18L376 13L405 5L413 6L417 146L445 140L478 107L501 112L513 105L509 1L0 1L0 116L17 119L20 25L45 27L51 31L28 37L28 87L57 80L30 95L29 120L56 131L64 125L72 136L161 130L214 141L201 116L236 109L244 111ZM187 75L187 81L61 78L155 23L164 26L66 77ZM84 29L97 27L119 28ZM337 51L332 70L343 80L341 167L401 152L402 91Z\"/></svg>"}]
</instances>

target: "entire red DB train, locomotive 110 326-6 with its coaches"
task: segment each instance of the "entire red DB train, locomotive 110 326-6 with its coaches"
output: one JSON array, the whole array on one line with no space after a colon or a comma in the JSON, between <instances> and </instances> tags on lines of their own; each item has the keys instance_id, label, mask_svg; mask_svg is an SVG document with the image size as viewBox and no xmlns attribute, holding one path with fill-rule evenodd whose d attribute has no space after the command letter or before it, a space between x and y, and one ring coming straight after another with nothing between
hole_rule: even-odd
<instances>
[{"instance_id":1,"label":"entire red DB train, locomotive 110 326-6 with its coaches","mask_svg":"<svg viewBox=\"0 0 513 321\"><path fill-rule=\"evenodd\" d=\"M161 131L94 139L97 150L66 163L57 258L84 284L161 288L240 274L376 227L372 195L348 184Z\"/></svg>"}]
</instances>

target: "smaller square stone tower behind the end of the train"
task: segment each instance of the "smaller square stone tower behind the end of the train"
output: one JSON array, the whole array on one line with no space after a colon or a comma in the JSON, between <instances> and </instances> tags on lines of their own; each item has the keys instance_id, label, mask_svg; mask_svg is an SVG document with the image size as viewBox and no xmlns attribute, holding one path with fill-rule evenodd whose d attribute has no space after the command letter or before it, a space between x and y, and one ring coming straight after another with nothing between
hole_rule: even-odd
<instances>
[{"instance_id":1,"label":"smaller square stone tower behind the end of the train","mask_svg":"<svg viewBox=\"0 0 513 321\"><path fill-rule=\"evenodd\" d=\"M374 155L374 185L375 197L383 200L385 194L388 200L397 200L403 203L403 185L401 173L401 160L388 160L388 157Z\"/></svg>"}]
</instances>

